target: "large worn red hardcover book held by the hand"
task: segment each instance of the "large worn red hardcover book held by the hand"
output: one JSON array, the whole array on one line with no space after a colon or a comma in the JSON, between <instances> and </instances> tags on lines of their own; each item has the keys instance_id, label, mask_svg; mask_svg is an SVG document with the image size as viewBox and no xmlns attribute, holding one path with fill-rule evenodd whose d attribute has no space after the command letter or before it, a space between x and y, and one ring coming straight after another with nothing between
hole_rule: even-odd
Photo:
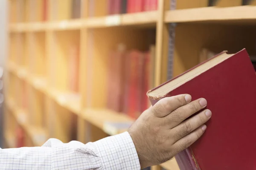
<instances>
[{"instance_id":1,"label":"large worn red hardcover book held by the hand","mask_svg":"<svg viewBox=\"0 0 256 170\"><path fill-rule=\"evenodd\" d=\"M175 156L180 170L255 170L256 75L245 49L225 51L148 91L159 99L191 94L212 111L201 138Z\"/></svg>"}]
</instances>

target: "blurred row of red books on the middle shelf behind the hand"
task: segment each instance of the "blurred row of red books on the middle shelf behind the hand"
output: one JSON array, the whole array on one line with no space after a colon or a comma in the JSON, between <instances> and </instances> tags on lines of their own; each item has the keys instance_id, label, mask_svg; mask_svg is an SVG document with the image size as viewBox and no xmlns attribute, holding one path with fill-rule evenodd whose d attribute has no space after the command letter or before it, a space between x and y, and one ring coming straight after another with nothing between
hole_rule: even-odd
<instances>
[{"instance_id":1,"label":"blurred row of red books on the middle shelf behind the hand","mask_svg":"<svg viewBox=\"0 0 256 170\"><path fill-rule=\"evenodd\" d=\"M137 119L149 107L146 92L154 79L154 45L140 51L119 44L109 57L107 107Z\"/></svg>"}]
</instances>

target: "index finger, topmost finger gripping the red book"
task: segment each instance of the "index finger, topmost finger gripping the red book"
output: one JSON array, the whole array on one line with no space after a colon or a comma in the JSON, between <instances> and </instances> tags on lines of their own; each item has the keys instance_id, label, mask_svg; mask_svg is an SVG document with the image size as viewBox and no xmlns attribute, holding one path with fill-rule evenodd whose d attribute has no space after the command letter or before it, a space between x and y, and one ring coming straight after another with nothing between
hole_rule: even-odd
<instances>
[{"instance_id":1,"label":"index finger, topmost finger gripping the red book","mask_svg":"<svg viewBox=\"0 0 256 170\"><path fill-rule=\"evenodd\" d=\"M151 113L156 117L164 117L169 115L175 109L188 104L190 101L191 96L189 94L165 97L151 107Z\"/></svg>"}]
</instances>

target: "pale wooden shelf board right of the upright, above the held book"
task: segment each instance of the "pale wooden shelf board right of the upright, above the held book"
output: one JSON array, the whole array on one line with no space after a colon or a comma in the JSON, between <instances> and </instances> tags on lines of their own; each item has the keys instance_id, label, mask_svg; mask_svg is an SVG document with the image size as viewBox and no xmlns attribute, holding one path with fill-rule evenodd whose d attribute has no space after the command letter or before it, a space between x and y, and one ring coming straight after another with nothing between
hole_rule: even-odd
<instances>
[{"instance_id":1,"label":"pale wooden shelf board right of the upright, above the held book","mask_svg":"<svg viewBox=\"0 0 256 170\"><path fill-rule=\"evenodd\" d=\"M166 11L165 23L253 23L256 6L203 7Z\"/></svg>"}]
</instances>

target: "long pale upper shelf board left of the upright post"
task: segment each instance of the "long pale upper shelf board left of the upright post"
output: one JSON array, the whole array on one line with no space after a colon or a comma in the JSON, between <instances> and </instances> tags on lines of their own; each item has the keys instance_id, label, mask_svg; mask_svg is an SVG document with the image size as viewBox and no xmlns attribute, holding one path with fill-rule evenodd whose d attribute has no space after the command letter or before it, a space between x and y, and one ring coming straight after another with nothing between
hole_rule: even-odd
<instances>
[{"instance_id":1,"label":"long pale upper shelf board left of the upright post","mask_svg":"<svg viewBox=\"0 0 256 170\"><path fill-rule=\"evenodd\" d=\"M145 25L157 22L157 11L146 11L134 14L117 14L87 19L62 20L55 22L12 23L10 32L30 32L47 30L74 30L81 28L102 28L109 26Z\"/></svg>"}]
</instances>

